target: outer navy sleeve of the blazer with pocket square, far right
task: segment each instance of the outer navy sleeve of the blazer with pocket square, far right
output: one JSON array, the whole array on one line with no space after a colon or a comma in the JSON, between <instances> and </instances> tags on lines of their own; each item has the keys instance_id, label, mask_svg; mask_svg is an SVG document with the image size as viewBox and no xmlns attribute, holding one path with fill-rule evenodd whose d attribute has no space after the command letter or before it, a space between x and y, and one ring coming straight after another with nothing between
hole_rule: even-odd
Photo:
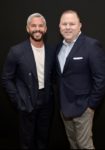
<instances>
[{"instance_id":1,"label":"outer navy sleeve of the blazer with pocket square, far right","mask_svg":"<svg viewBox=\"0 0 105 150\"><path fill-rule=\"evenodd\" d=\"M89 54L92 90L89 107L95 109L105 95L105 51L99 42L94 43Z\"/></svg>"}]
</instances>

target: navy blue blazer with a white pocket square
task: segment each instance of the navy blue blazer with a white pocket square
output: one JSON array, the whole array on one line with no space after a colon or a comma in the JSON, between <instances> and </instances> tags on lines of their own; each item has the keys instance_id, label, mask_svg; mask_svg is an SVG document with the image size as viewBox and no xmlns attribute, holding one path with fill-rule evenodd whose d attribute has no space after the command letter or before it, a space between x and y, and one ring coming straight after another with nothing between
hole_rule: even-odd
<instances>
[{"instance_id":1,"label":"navy blue blazer with a white pocket square","mask_svg":"<svg viewBox=\"0 0 105 150\"><path fill-rule=\"evenodd\" d=\"M62 42L57 46L57 55ZM69 53L63 73L57 58L60 109L66 117L95 109L105 93L105 52L100 43L83 34Z\"/></svg>"}]
</instances>

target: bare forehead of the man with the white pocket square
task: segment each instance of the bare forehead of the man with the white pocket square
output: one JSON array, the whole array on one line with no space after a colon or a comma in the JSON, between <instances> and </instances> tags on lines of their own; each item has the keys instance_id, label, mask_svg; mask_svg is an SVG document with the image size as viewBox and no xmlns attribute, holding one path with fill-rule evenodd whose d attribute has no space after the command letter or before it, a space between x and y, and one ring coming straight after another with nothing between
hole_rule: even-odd
<instances>
[{"instance_id":1,"label":"bare forehead of the man with the white pocket square","mask_svg":"<svg viewBox=\"0 0 105 150\"><path fill-rule=\"evenodd\" d=\"M75 13L65 13L61 16L60 22L79 22L79 18Z\"/></svg>"}]
</instances>

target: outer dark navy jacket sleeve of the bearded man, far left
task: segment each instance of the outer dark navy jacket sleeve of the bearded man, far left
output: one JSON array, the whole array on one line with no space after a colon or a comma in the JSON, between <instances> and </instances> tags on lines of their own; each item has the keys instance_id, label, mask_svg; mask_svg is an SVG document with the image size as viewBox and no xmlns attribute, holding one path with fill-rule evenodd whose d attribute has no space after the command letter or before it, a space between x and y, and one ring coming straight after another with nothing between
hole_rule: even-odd
<instances>
[{"instance_id":1,"label":"outer dark navy jacket sleeve of the bearded man, far left","mask_svg":"<svg viewBox=\"0 0 105 150\"><path fill-rule=\"evenodd\" d=\"M13 52L13 49L10 49L3 67L2 85L6 89L11 101L14 104L17 104L17 101L19 99L19 95L15 86L16 67L17 58Z\"/></svg>"}]
</instances>

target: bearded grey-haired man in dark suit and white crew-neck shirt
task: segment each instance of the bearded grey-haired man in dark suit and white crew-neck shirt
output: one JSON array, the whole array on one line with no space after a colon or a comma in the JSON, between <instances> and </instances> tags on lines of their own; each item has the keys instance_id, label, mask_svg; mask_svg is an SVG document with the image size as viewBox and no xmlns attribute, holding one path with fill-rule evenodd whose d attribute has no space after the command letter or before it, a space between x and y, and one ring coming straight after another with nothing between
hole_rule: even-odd
<instances>
[{"instance_id":1,"label":"bearded grey-haired man in dark suit and white crew-neck shirt","mask_svg":"<svg viewBox=\"0 0 105 150\"><path fill-rule=\"evenodd\" d=\"M2 81L19 112L21 149L47 150L53 108L54 50L44 42L45 18L34 13L27 19L29 39L13 46Z\"/></svg>"}]
</instances>

